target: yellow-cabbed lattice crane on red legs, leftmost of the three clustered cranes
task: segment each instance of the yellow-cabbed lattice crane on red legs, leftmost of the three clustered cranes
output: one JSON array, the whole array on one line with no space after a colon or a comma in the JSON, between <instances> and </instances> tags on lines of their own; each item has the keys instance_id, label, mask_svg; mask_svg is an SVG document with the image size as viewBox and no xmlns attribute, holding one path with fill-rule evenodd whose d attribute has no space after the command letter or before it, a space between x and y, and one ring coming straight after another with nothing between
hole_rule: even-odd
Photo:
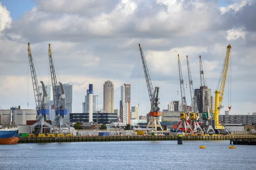
<instances>
[{"instance_id":1,"label":"yellow-cabbed lattice crane on red legs, leftmost of the three clustered cranes","mask_svg":"<svg viewBox=\"0 0 256 170\"><path fill-rule=\"evenodd\" d=\"M181 71L181 65L180 65L180 55L178 54L178 65L179 65L179 75L180 75L180 94L181 94L181 108L182 108L182 112L180 113L180 125L177 127L177 130L182 127L182 129L185 129L185 132L187 132L187 130L192 130L191 126L188 123L189 120L189 111L187 109L187 104L186 104L186 95L185 95L185 89L184 89L184 81L183 81L183 77L182 77L182 71ZM183 130L182 130L183 131Z\"/></svg>"}]
</instances>

